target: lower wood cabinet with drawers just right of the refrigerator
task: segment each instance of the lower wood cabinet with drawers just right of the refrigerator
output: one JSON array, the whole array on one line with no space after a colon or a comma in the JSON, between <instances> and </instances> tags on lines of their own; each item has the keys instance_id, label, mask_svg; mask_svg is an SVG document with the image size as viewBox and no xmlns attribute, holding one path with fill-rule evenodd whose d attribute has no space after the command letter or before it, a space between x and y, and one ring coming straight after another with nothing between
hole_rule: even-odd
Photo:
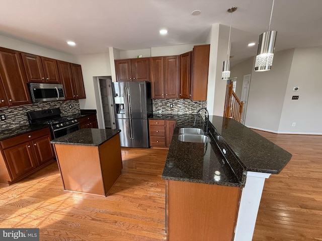
<instances>
[{"instance_id":1,"label":"lower wood cabinet with drawers just right of the refrigerator","mask_svg":"<svg viewBox=\"0 0 322 241\"><path fill-rule=\"evenodd\" d=\"M150 147L169 148L176 121L168 119L149 119Z\"/></svg>"}]
</instances>

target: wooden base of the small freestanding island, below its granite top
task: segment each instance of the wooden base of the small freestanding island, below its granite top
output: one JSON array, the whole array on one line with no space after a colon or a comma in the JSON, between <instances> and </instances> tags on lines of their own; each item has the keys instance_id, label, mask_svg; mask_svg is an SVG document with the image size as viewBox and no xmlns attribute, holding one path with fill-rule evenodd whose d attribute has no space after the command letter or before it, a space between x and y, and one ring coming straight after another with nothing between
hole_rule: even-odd
<instances>
[{"instance_id":1,"label":"wooden base of the small freestanding island, below its granite top","mask_svg":"<svg viewBox=\"0 0 322 241\"><path fill-rule=\"evenodd\" d=\"M54 146L66 191L106 196L121 175L119 135L100 146Z\"/></svg>"}]
</instances>

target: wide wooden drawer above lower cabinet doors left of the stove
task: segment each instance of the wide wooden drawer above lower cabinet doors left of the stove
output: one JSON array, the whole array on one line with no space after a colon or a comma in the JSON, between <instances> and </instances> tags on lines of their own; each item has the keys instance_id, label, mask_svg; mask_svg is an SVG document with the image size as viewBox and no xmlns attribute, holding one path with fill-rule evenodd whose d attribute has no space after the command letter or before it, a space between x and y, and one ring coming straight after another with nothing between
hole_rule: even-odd
<instances>
[{"instance_id":1,"label":"wide wooden drawer above lower cabinet doors left of the stove","mask_svg":"<svg viewBox=\"0 0 322 241\"><path fill-rule=\"evenodd\" d=\"M9 138L4 141L1 141L0 144L3 149L6 149L12 146L16 146L20 143L28 142L29 140L33 140L46 135L50 135L49 128L45 128L39 131L29 132L26 134L19 135L17 137Z\"/></svg>"}]
</instances>

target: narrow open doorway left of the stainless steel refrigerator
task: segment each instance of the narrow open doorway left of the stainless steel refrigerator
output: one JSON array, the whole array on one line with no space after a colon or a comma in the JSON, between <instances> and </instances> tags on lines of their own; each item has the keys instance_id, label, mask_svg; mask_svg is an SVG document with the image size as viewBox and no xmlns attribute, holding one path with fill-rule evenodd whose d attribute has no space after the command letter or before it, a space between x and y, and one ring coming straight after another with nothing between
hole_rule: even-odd
<instances>
[{"instance_id":1,"label":"narrow open doorway left of the stainless steel refrigerator","mask_svg":"<svg viewBox=\"0 0 322 241\"><path fill-rule=\"evenodd\" d=\"M112 98L112 78L98 77L100 85L101 108L105 129L116 129Z\"/></svg>"}]
</instances>

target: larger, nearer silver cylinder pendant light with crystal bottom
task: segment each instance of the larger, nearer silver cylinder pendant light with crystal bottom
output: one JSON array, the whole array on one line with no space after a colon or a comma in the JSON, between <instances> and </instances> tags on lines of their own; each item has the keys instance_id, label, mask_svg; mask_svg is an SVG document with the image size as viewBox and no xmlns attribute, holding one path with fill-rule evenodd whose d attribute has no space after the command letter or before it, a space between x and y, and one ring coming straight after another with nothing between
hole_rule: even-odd
<instances>
[{"instance_id":1,"label":"larger, nearer silver cylinder pendant light with crystal bottom","mask_svg":"<svg viewBox=\"0 0 322 241\"><path fill-rule=\"evenodd\" d=\"M272 14L274 8L274 0L271 11L270 24L268 26L268 31L260 35L258 41L257 56L255 61L255 71L267 71L271 70L274 57L274 48L277 31L271 29Z\"/></svg>"}]
</instances>

